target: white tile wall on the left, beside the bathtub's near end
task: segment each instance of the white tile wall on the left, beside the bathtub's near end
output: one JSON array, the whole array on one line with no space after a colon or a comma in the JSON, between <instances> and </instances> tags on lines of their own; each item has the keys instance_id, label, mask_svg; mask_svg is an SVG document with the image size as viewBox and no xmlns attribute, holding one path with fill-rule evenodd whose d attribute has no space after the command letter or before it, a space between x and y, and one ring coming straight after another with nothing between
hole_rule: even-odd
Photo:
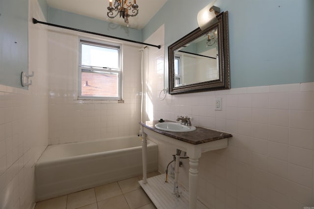
<instances>
[{"instance_id":1,"label":"white tile wall on the left, beside the bathtub's near end","mask_svg":"<svg viewBox=\"0 0 314 209\"><path fill-rule=\"evenodd\" d=\"M37 0L29 17L44 20ZM34 163L48 145L47 29L29 22L29 90L0 85L0 208L32 209Z\"/></svg>"}]
</instances>

